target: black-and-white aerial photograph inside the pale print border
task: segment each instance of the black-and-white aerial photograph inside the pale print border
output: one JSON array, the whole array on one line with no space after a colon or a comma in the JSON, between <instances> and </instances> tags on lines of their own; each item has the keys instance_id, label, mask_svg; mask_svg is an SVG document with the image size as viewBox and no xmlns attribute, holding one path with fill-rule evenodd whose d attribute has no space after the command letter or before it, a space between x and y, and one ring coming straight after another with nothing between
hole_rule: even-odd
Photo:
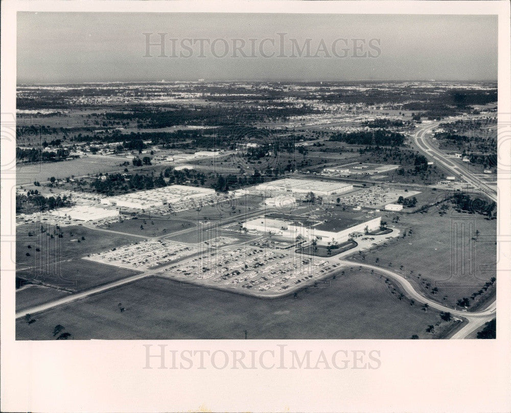
<instances>
[{"instance_id":1,"label":"black-and-white aerial photograph inside the pale print border","mask_svg":"<svg viewBox=\"0 0 511 413\"><path fill-rule=\"evenodd\" d=\"M495 16L17 20L17 340L495 338Z\"/></svg>"}]
</instances>

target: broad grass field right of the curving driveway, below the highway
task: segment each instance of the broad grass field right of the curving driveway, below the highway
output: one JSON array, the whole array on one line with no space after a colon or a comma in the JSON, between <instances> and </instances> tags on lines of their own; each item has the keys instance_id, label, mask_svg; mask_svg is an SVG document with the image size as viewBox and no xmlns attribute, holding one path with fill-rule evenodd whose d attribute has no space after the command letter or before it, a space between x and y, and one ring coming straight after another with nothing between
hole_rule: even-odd
<instances>
[{"instance_id":1,"label":"broad grass field right of the curving driveway, below the highway","mask_svg":"<svg viewBox=\"0 0 511 413\"><path fill-rule=\"evenodd\" d=\"M496 276L496 220L452 209L440 216L432 207L424 214L401 214L399 223L392 225L406 231L411 229L412 234L366 252L363 262L405 275L417 289L434 300L454 305ZM477 237L475 231L479 231ZM379 258L378 263L376 258ZM362 261L359 255L351 259ZM438 292L433 294L435 287ZM491 290L485 294L491 294ZM484 299L484 295L471 300L471 307L479 299Z\"/></svg>"}]
</instances>

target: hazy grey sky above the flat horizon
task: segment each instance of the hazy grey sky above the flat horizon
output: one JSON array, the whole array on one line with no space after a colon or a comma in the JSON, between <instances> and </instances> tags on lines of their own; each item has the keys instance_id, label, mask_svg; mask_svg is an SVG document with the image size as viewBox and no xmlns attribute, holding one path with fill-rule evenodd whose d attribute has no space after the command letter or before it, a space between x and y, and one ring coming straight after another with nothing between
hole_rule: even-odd
<instances>
[{"instance_id":1,"label":"hazy grey sky above the flat horizon","mask_svg":"<svg viewBox=\"0 0 511 413\"><path fill-rule=\"evenodd\" d=\"M495 81L497 33L492 15L18 12L17 83Z\"/></svg>"}]
</instances>

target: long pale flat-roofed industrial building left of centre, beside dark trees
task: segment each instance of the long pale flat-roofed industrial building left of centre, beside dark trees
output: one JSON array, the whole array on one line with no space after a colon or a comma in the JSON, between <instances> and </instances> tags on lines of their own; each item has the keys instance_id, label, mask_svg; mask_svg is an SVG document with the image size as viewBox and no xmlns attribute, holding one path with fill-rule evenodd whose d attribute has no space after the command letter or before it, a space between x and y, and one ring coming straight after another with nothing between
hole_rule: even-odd
<instances>
[{"instance_id":1,"label":"long pale flat-roofed industrial building left of centre, beside dark trees","mask_svg":"<svg viewBox=\"0 0 511 413\"><path fill-rule=\"evenodd\" d=\"M169 185L163 188L137 191L115 197L103 198L105 205L117 205L118 207L133 209L148 209L164 204L174 204L190 199L203 199L206 196L215 195L215 190L199 188L197 186Z\"/></svg>"}]
</instances>

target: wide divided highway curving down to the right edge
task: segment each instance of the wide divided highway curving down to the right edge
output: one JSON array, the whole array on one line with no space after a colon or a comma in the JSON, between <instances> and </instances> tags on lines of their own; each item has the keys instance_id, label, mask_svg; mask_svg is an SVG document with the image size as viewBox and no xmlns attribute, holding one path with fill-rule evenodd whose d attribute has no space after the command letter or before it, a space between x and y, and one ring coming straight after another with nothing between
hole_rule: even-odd
<instances>
[{"instance_id":1,"label":"wide divided highway curving down to the right edge","mask_svg":"<svg viewBox=\"0 0 511 413\"><path fill-rule=\"evenodd\" d=\"M438 127L440 123L434 122L432 124L424 125L419 128L413 135L413 141L417 147L424 152L424 154L433 158L436 162L446 167L453 173L454 176L459 176L464 181L472 184L476 189L484 193L492 201L497 202L497 191L495 188L487 185L484 181L472 175L470 172L464 170L460 165L450 160L445 153L433 147L427 135L430 134L434 129Z\"/></svg>"}]
</instances>

